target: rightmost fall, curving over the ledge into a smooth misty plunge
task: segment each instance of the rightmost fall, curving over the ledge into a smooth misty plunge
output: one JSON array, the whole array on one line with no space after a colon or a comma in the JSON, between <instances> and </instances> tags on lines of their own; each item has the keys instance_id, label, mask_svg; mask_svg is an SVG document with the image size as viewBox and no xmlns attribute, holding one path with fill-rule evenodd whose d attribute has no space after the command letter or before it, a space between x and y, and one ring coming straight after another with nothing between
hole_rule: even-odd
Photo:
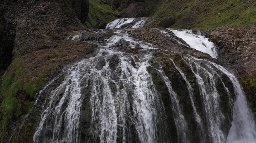
<instances>
[{"instance_id":1,"label":"rightmost fall, curving over the ledge into a smooth misty plunge","mask_svg":"<svg viewBox=\"0 0 256 143\"><path fill-rule=\"evenodd\" d=\"M223 72L232 81L236 94L236 102L233 108L233 122L227 137L227 143L256 143L256 125L244 92L236 77L224 67L213 62L192 58L194 61L208 62L221 72ZM217 142L216 142L217 143ZM223 143L223 142L218 142Z\"/></svg>"}]
</instances>

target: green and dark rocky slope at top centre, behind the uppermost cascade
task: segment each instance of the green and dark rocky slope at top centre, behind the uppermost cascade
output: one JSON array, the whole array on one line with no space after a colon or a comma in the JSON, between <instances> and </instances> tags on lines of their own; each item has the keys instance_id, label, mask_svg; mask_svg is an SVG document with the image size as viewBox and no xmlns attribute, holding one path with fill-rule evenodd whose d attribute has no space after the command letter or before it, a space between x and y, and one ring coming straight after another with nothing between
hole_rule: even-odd
<instances>
[{"instance_id":1,"label":"green and dark rocky slope at top centre, behind the uppermost cascade","mask_svg":"<svg viewBox=\"0 0 256 143\"><path fill-rule=\"evenodd\" d=\"M89 0L87 28L101 28L120 17L149 17L154 14L157 0Z\"/></svg>"}]
</instances>

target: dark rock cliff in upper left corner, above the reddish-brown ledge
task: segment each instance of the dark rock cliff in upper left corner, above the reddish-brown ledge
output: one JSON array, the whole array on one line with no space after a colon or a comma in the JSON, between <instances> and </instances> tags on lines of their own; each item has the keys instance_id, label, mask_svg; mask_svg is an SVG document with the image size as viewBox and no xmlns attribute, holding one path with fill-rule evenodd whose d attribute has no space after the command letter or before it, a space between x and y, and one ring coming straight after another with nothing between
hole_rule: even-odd
<instances>
[{"instance_id":1,"label":"dark rock cliff in upper left corner, above the reddish-brown ledge","mask_svg":"<svg viewBox=\"0 0 256 143\"><path fill-rule=\"evenodd\" d=\"M50 48L54 43L46 39L61 31L83 29L89 4L87 0L4 0L0 11L1 73L12 60L12 49L15 55Z\"/></svg>"}]
</instances>

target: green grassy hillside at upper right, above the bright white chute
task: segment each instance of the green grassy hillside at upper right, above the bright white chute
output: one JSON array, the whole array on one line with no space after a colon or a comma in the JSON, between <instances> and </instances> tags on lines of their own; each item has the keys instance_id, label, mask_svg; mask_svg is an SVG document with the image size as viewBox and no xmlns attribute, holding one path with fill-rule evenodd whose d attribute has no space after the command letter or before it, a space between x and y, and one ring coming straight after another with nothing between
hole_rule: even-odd
<instances>
[{"instance_id":1,"label":"green grassy hillside at upper right, above the bright white chute","mask_svg":"<svg viewBox=\"0 0 256 143\"><path fill-rule=\"evenodd\" d=\"M172 27L217 28L256 24L255 0L162 0L154 14L155 22L175 17Z\"/></svg>"}]
</instances>

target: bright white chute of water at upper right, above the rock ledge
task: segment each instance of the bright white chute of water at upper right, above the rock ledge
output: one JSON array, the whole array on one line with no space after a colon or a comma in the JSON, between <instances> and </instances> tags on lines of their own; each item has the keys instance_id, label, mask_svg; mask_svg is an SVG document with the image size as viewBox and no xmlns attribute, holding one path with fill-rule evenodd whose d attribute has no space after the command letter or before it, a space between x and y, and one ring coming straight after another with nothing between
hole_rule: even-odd
<instances>
[{"instance_id":1,"label":"bright white chute of water at upper right, above the rock ledge","mask_svg":"<svg viewBox=\"0 0 256 143\"><path fill-rule=\"evenodd\" d=\"M210 42L208 38L201 35L195 35L191 30L169 30L171 30L175 36L183 39L191 48L195 48L201 52L208 53L210 56L212 56L212 58L218 57L215 45Z\"/></svg>"}]
</instances>

